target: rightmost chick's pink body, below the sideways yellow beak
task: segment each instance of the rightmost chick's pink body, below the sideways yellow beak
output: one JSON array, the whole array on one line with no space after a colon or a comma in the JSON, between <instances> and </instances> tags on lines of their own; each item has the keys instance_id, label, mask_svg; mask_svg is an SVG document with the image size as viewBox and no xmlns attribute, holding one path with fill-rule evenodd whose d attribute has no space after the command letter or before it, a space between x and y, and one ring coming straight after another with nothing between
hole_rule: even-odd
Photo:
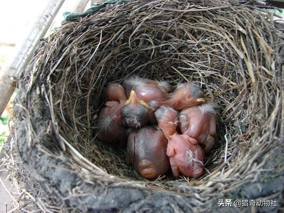
<instances>
[{"instance_id":1,"label":"rightmost chick's pink body, below the sideways yellow beak","mask_svg":"<svg viewBox=\"0 0 284 213\"><path fill-rule=\"evenodd\" d=\"M204 111L204 109L209 112ZM216 115L209 104L189 107L181 111L179 127L183 134L197 139L204 153L215 146Z\"/></svg>"}]
</instances>

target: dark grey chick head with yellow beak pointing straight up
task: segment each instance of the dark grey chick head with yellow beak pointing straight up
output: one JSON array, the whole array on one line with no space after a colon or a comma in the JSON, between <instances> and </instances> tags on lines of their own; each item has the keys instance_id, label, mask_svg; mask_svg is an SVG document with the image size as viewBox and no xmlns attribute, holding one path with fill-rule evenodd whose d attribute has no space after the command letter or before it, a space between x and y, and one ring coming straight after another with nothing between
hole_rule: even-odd
<instances>
[{"instance_id":1,"label":"dark grey chick head with yellow beak pointing straight up","mask_svg":"<svg viewBox=\"0 0 284 213\"><path fill-rule=\"evenodd\" d=\"M133 90L121 110L124 124L128 127L140 128L145 126L149 120L149 105L137 98Z\"/></svg>"}]
</instances>

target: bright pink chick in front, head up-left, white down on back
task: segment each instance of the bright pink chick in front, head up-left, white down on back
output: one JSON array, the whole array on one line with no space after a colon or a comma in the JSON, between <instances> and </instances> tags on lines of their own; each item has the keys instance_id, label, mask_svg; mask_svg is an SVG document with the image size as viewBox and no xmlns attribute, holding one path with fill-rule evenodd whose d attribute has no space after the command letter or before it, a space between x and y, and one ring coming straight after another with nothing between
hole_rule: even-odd
<instances>
[{"instance_id":1,"label":"bright pink chick in front, head up-left, white down on back","mask_svg":"<svg viewBox=\"0 0 284 213\"><path fill-rule=\"evenodd\" d=\"M162 106L155 112L158 125L168 138L167 156L173 175L182 173L188 177L197 177L203 173L204 153L196 139L177 133L177 112Z\"/></svg>"}]
</instances>

